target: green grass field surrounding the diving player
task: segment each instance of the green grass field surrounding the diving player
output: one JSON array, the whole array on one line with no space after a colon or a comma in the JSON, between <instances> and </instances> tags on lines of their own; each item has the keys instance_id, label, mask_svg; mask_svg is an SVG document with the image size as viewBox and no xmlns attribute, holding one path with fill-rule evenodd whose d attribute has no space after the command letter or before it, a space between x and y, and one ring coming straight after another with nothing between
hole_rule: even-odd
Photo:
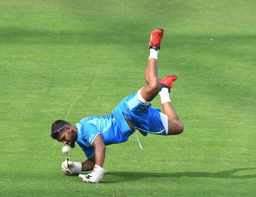
<instances>
[{"instance_id":1,"label":"green grass field surrounding the diving player","mask_svg":"<svg viewBox=\"0 0 256 197\"><path fill-rule=\"evenodd\" d=\"M255 196L254 1L0 2L0 196ZM57 119L109 114L145 85L147 41L185 130L107 146L99 184L61 171ZM159 97L152 105L161 107ZM78 145L68 154L83 161Z\"/></svg>"}]
</instances>

